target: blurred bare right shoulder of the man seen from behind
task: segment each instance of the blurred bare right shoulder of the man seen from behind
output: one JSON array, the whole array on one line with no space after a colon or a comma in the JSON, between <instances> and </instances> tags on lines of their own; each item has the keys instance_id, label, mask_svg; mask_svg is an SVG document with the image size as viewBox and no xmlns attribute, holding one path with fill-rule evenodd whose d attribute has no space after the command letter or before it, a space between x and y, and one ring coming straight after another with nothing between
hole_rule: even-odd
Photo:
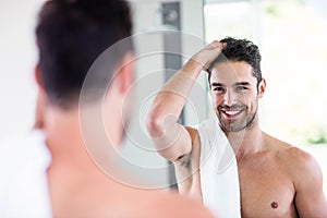
<instances>
[{"instance_id":1,"label":"blurred bare right shoulder of the man seen from behind","mask_svg":"<svg viewBox=\"0 0 327 218\"><path fill-rule=\"evenodd\" d=\"M135 189L119 184L108 193L110 194L104 195L102 192L102 201L95 206L96 213L93 215L97 216L88 217L213 217L199 202L172 191Z\"/></svg>"}]
</instances>

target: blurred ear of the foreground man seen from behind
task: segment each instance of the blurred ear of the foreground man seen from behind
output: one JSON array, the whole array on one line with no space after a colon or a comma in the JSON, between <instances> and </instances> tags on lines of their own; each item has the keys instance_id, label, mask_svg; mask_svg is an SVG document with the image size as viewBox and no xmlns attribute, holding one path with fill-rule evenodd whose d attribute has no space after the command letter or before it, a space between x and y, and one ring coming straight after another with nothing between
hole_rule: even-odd
<instances>
[{"instance_id":1,"label":"blurred ear of the foreground man seen from behind","mask_svg":"<svg viewBox=\"0 0 327 218\"><path fill-rule=\"evenodd\" d=\"M133 72L134 72L134 56L132 52L128 52L121 60L121 64L118 69L117 83L119 85L119 90L125 94L133 83Z\"/></svg>"}]
</instances>

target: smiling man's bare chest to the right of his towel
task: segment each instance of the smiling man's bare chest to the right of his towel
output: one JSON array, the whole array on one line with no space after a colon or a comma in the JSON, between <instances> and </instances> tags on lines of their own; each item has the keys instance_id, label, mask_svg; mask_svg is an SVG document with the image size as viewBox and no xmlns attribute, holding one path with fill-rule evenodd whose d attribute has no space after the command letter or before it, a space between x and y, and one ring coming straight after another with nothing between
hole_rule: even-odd
<instances>
[{"instance_id":1,"label":"smiling man's bare chest to the right of his towel","mask_svg":"<svg viewBox=\"0 0 327 218\"><path fill-rule=\"evenodd\" d=\"M239 161L242 217L296 217L294 187L280 162Z\"/></svg>"}]
</instances>

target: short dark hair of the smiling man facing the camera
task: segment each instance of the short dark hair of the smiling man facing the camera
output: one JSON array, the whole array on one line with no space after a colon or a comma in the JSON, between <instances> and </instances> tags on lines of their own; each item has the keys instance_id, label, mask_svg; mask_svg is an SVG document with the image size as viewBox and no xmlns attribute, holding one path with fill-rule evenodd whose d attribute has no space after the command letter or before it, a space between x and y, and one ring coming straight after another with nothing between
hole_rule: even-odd
<instances>
[{"instance_id":1,"label":"short dark hair of the smiling man facing the camera","mask_svg":"<svg viewBox=\"0 0 327 218\"><path fill-rule=\"evenodd\" d=\"M218 62L223 61L245 61L253 69L253 76L257 80L257 86L262 81L261 60L258 47L247 39L235 39L227 37L221 39L226 46L221 53L210 63L208 68L208 81L210 82L211 70Z\"/></svg>"}]
</instances>

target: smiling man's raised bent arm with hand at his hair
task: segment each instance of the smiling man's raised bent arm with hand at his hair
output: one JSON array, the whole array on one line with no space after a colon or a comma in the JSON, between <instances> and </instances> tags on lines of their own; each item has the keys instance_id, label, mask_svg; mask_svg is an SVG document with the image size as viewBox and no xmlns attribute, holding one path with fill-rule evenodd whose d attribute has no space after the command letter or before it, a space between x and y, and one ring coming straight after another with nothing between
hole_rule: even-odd
<instances>
[{"instance_id":1,"label":"smiling man's raised bent arm with hand at his hair","mask_svg":"<svg viewBox=\"0 0 327 218\"><path fill-rule=\"evenodd\" d=\"M192 150L187 130L178 123L186 98L203 69L221 52L222 44L215 40L195 53L159 90L147 114L146 126L158 153L178 160Z\"/></svg>"}]
</instances>

